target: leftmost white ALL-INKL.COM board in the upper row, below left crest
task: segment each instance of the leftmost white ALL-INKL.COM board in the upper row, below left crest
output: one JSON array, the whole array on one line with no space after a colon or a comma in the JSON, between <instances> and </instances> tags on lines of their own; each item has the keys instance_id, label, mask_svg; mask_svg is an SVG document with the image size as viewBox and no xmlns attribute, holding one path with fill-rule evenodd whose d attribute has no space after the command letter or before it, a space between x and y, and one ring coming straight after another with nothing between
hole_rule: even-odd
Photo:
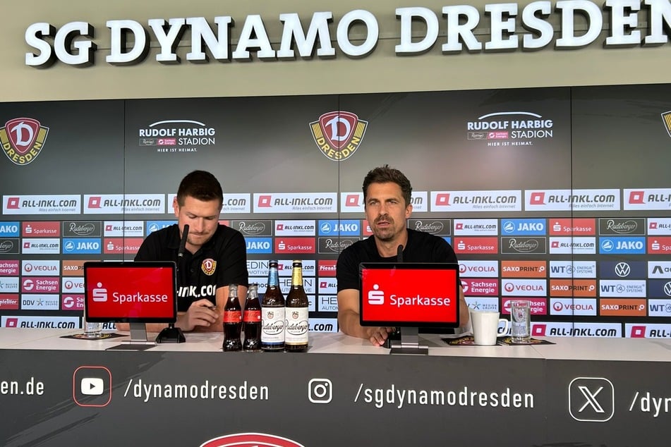
<instances>
[{"instance_id":1,"label":"leftmost white ALL-INKL.COM board in the upper row, below left crest","mask_svg":"<svg viewBox=\"0 0 671 447\"><path fill-rule=\"evenodd\" d=\"M82 214L80 195L4 195L2 214Z\"/></svg>"}]
</instances>

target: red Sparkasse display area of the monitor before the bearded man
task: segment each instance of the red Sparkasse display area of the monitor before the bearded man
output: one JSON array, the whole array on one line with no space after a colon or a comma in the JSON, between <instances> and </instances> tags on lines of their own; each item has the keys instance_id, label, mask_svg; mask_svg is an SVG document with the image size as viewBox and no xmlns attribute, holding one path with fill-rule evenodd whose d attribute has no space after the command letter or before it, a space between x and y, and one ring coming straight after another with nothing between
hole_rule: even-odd
<instances>
[{"instance_id":1,"label":"red Sparkasse display area of the monitor before the bearded man","mask_svg":"<svg viewBox=\"0 0 671 447\"><path fill-rule=\"evenodd\" d=\"M361 324L449 325L458 321L457 269L363 268Z\"/></svg>"}]
</instances>

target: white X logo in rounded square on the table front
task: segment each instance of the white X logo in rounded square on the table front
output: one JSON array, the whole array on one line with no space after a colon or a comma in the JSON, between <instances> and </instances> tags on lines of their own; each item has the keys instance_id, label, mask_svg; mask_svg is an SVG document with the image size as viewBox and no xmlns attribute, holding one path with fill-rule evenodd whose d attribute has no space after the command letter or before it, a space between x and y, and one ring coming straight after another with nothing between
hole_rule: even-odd
<instances>
[{"instance_id":1,"label":"white X logo in rounded square on the table front","mask_svg":"<svg viewBox=\"0 0 671 447\"><path fill-rule=\"evenodd\" d=\"M615 413L615 387L603 377L576 377L569 384L569 413L580 422L606 422Z\"/></svg>"}]
</instances>

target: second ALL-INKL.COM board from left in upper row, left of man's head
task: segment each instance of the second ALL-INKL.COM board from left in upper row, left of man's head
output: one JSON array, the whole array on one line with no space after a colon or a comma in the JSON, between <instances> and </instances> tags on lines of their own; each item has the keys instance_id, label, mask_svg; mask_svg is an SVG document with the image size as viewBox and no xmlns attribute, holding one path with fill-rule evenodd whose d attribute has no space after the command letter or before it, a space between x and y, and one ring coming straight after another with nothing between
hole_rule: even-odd
<instances>
[{"instance_id":1,"label":"second ALL-INKL.COM board from left in upper row, left of man's head","mask_svg":"<svg viewBox=\"0 0 671 447\"><path fill-rule=\"evenodd\" d=\"M164 194L84 195L84 214L165 214Z\"/></svg>"}]
</instances>

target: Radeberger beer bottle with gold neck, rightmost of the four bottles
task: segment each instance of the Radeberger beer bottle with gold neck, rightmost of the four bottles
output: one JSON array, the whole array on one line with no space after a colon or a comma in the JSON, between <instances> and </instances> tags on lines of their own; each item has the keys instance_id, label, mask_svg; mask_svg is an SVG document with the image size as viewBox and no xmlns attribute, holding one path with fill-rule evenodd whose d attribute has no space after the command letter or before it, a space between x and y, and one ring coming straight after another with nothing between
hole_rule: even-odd
<instances>
[{"instance_id":1,"label":"Radeberger beer bottle with gold neck, rightmost of the four bottles","mask_svg":"<svg viewBox=\"0 0 671 447\"><path fill-rule=\"evenodd\" d=\"M294 261L291 290L286 297L284 350L305 353L308 350L308 295L303 289L303 262Z\"/></svg>"}]
</instances>

